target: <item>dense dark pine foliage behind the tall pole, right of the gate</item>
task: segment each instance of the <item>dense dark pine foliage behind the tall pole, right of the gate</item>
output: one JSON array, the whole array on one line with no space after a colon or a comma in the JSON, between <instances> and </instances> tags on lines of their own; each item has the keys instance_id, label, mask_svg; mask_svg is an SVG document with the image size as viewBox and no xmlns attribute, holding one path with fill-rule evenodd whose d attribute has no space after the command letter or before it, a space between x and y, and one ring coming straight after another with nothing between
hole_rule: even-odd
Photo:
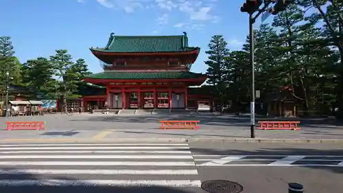
<instances>
[{"instance_id":1,"label":"dense dark pine foliage behind the tall pole, right of the gate","mask_svg":"<svg viewBox=\"0 0 343 193\"><path fill-rule=\"evenodd\" d=\"M274 16L271 25L264 23L254 30L255 88L261 91L257 102L289 85L294 95L305 100L307 112L330 113L337 107L343 111L342 17L341 1L298 0ZM225 101L232 102L235 111L244 104L249 109L249 49L247 36L241 50L221 56L226 58L220 67L225 77L222 92L228 93ZM209 60L212 58L210 55ZM211 65L208 71L212 73Z\"/></svg>"}]
</instances>

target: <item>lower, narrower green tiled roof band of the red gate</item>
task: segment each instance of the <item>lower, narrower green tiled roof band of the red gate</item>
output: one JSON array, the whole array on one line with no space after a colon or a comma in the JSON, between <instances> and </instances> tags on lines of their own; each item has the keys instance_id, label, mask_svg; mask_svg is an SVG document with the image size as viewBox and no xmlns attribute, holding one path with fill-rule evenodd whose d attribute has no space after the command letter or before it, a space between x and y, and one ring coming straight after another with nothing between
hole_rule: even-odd
<instances>
[{"instance_id":1,"label":"lower, narrower green tiled roof band of the red gate","mask_svg":"<svg viewBox=\"0 0 343 193\"><path fill-rule=\"evenodd\" d=\"M141 79L186 79L200 78L205 75L190 71L104 71L93 73L85 78L114 79L114 80L141 80Z\"/></svg>"}]
</instances>

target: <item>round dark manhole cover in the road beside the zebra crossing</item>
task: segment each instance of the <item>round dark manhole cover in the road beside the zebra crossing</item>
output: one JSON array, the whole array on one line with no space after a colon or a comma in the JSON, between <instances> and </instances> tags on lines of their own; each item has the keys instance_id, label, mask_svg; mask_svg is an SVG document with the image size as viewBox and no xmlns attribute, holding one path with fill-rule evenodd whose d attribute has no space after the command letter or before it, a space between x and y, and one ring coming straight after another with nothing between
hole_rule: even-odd
<instances>
[{"instance_id":1,"label":"round dark manhole cover in the road beside the zebra crossing","mask_svg":"<svg viewBox=\"0 0 343 193\"><path fill-rule=\"evenodd\" d=\"M239 193L243 191L243 186L239 183L226 180L211 180L201 184L202 190L210 193Z\"/></svg>"}]
</instances>

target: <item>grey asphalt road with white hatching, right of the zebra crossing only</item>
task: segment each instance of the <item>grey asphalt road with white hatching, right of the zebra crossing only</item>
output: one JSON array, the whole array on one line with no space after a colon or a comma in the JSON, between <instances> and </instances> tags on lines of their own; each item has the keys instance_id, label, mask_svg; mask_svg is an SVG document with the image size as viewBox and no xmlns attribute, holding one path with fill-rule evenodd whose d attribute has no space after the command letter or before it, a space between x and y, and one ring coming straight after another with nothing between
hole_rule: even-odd
<instances>
[{"instance_id":1,"label":"grey asphalt road with white hatching, right of the zebra crossing only","mask_svg":"<svg viewBox=\"0 0 343 193\"><path fill-rule=\"evenodd\" d=\"M192 143L202 182L234 181L246 193L287 192L300 183L309 193L343 189L343 144Z\"/></svg>"}]
</instances>

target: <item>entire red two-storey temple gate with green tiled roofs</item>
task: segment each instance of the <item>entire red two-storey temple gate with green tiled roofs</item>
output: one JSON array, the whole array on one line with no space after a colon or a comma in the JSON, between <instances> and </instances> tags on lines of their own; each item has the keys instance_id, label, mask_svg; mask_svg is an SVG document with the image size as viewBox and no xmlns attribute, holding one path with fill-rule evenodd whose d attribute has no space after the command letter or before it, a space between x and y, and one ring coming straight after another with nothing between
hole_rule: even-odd
<instances>
[{"instance_id":1,"label":"entire red two-storey temple gate with green tiled roofs","mask_svg":"<svg viewBox=\"0 0 343 193\"><path fill-rule=\"evenodd\" d=\"M104 69L84 81L106 88L106 95L82 98L84 111L93 109L188 109L211 104L189 94L206 75L190 71L200 47L188 44L186 32L176 36L117 36L105 47L91 47Z\"/></svg>"}]
</instances>

